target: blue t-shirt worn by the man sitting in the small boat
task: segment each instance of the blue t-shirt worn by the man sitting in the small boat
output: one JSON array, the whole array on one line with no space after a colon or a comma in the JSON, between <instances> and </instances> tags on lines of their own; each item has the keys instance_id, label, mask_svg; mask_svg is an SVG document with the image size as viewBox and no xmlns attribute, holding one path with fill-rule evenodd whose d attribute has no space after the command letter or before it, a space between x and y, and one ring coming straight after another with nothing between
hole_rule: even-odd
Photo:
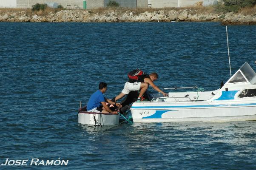
<instances>
[{"instance_id":1,"label":"blue t-shirt worn by the man sitting in the small boat","mask_svg":"<svg viewBox=\"0 0 256 170\"><path fill-rule=\"evenodd\" d=\"M87 111L99 107L101 105L100 102L105 102L105 99L102 92L100 90L97 90L94 92L94 94L91 95L87 103Z\"/></svg>"}]
</instances>

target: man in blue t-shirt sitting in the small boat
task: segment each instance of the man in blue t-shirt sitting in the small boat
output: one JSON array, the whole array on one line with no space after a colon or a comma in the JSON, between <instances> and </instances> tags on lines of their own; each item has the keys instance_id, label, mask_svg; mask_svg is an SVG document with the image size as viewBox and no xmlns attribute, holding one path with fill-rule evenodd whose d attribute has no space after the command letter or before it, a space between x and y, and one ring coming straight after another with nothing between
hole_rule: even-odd
<instances>
[{"instance_id":1,"label":"man in blue t-shirt sitting in the small boat","mask_svg":"<svg viewBox=\"0 0 256 170\"><path fill-rule=\"evenodd\" d=\"M113 113L116 114L117 111L111 111L110 108L106 105L105 102L108 102L112 105L121 106L120 103L112 102L110 99L106 99L103 96L103 93L107 91L107 84L105 82L100 82L99 90L95 91L94 94L91 95L89 101L87 103L87 111L88 112L97 112L97 113Z\"/></svg>"}]
</instances>

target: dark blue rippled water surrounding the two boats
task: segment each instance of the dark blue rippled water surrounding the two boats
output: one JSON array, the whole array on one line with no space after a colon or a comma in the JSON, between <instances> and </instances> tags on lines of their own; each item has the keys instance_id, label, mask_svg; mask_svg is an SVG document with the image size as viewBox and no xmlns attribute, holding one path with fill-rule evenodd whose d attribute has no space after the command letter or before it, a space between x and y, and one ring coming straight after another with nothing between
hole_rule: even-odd
<instances>
[{"instance_id":1,"label":"dark blue rippled water surrounding the two boats","mask_svg":"<svg viewBox=\"0 0 256 170\"><path fill-rule=\"evenodd\" d=\"M0 163L61 158L68 167L55 168L256 169L253 121L109 130L77 124L80 100L85 105L101 81L108 83L105 96L114 97L134 68L157 72L160 88L219 88L230 75L225 29L219 23L0 23ZM256 26L228 31L232 74L245 61L256 70Z\"/></svg>"}]
</instances>

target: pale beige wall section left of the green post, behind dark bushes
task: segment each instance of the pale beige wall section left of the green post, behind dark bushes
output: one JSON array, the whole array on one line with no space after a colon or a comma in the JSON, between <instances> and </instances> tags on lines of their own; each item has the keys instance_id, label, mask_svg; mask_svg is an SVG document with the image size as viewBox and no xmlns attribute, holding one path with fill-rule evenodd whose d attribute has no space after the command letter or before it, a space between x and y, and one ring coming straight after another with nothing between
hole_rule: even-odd
<instances>
[{"instance_id":1,"label":"pale beige wall section left of the green post, behind dark bushes","mask_svg":"<svg viewBox=\"0 0 256 170\"><path fill-rule=\"evenodd\" d=\"M67 8L68 5L70 5L71 8L75 8L75 5L78 5L80 9L83 8L82 0L17 0L17 8L31 8L31 6L36 3L49 2L58 3L59 5L62 5L64 8Z\"/></svg>"}]
</instances>

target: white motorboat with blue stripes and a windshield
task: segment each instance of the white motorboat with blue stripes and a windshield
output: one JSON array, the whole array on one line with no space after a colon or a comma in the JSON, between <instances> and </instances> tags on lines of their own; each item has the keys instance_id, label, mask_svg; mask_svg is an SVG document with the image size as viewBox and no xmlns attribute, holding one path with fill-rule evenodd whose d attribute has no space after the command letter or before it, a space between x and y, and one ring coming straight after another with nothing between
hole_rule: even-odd
<instances>
[{"instance_id":1,"label":"white motorboat with blue stripes and a windshield","mask_svg":"<svg viewBox=\"0 0 256 170\"><path fill-rule=\"evenodd\" d=\"M134 122L227 122L256 120L256 73L245 62L215 91L169 92L150 101L134 102ZM171 89L171 88L166 88ZM185 89L185 88L181 88Z\"/></svg>"}]
</instances>

